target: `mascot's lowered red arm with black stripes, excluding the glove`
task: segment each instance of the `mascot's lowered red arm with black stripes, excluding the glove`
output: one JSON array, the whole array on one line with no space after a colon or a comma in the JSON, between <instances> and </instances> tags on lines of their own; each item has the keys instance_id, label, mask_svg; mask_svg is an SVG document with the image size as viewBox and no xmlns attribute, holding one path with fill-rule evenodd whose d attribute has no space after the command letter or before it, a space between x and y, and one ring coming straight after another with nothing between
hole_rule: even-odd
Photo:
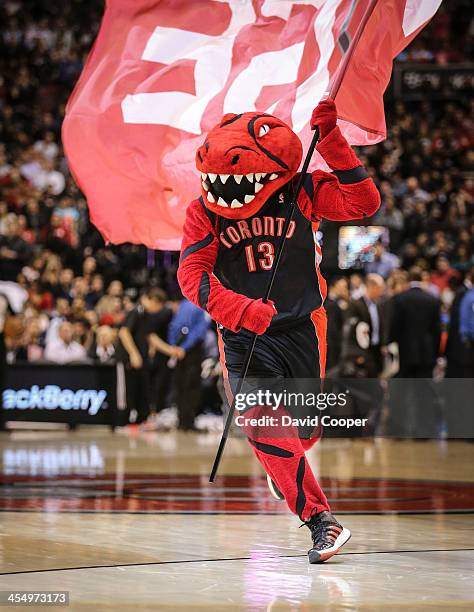
<instances>
[{"instance_id":1,"label":"mascot's lowered red arm with black stripes, excluding the glove","mask_svg":"<svg viewBox=\"0 0 474 612\"><path fill-rule=\"evenodd\" d=\"M224 287L214 276L218 239L199 200L188 206L178 282L183 295L227 329L239 331L251 298Z\"/></svg>"}]
</instances>

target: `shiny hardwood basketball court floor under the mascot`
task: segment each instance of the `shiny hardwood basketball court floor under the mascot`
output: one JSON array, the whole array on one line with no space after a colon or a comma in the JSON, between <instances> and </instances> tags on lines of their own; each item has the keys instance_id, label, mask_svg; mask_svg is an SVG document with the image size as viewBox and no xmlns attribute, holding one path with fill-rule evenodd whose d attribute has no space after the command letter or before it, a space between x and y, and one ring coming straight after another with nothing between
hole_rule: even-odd
<instances>
[{"instance_id":1,"label":"shiny hardwood basketball court floor under the mascot","mask_svg":"<svg viewBox=\"0 0 474 612\"><path fill-rule=\"evenodd\" d=\"M217 442L2 434L0 590L67 590L71 610L473 608L473 444L317 444L310 461L353 537L310 566L308 530L244 440L208 483Z\"/></svg>"}]
</instances>

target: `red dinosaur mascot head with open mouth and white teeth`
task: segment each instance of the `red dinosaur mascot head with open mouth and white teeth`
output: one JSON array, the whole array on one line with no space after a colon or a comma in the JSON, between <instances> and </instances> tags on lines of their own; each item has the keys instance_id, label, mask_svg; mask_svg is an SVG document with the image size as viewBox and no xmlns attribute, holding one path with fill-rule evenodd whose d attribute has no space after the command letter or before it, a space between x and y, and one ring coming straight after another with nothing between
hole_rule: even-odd
<instances>
[{"instance_id":1,"label":"red dinosaur mascot head with open mouth and white teeth","mask_svg":"<svg viewBox=\"0 0 474 612\"><path fill-rule=\"evenodd\" d=\"M251 217L296 174L302 155L300 139L280 119L224 115L196 153L206 206L227 219Z\"/></svg>"}]
</instances>

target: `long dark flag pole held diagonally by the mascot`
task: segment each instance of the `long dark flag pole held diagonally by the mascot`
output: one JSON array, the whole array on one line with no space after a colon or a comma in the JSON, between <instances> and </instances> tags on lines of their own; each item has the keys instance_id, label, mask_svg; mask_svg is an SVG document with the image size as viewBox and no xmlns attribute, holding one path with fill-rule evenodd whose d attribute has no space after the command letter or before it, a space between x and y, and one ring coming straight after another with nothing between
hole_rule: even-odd
<instances>
[{"instance_id":1,"label":"long dark flag pole held diagonally by the mascot","mask_svg":"<svg viewBox=\"0 0 474 612\"><path fill-rule=\"evenodd\" d=\"M364 31L364 28L367 24L367 21L369 20L370 16L373 13L373 10L375 8L375 5L377 4L377 0L371 0L371 2L367 5L367 8L364 12L364 14L362 15L362 18L360 20L359 25L357 26L357 30L356 33L353 37L353 39L351 40L349 47L347 48L346 53L344 54L344 57L342 58L342 61L337 69L337 72L335 74L335 77L331 83L329 92L328 92L328 96L330 98L332 98L333 100L335 99L335 97L337 96L337 92L339 91L339 88L341 87L341 83L342 83L342 79L344 78L344 74L346 73L347 67L349 65L350 59L352 57L352 55L354 54L354 50L357 46L357 43L360 40L360 37L362 36L362 33ZM308 170L309 164L311 162L311 158L313 157L313 153L314 153L314 149L316 148L316 145L318 144L318 140L319 140L319 130L316 129L314 131L314 135L313 138L311 140L311 144L309 145L308 148L308 152L306 153L306 157L303 163L303 166L301 168L300 171L300 175L298 177L298 182L296 184L296 189L293 193L293 196L291 198L291 202L290 202L290 209L289 209L289 214L285 220L285 224L283 226L283 231L282 231L282 235L281 235L281 240L280 240L280 244L278 245L278 250L277 250L277 254L275 257L275 261L273 264L273 268L272 268L272 274L270 276L270 280L268 281L268 286L267 289L265 291L265 295L263 296L263 301L264 302L268 302L268 299L270 297L271 291L272 291L272 287L273 287L273 283L275 281L275 277L276 277L276 273L278 270L278 265L280 263L280 259L283 253L283 248L285 246L285 242L286 242L286 235L288 233L288 228L290 226L290 223L293 219L293 214L295 212L295 207L296 207L296 202L298 201L298 196L301 192L301 189L303 187L303 183L305 180L305 176L306 176L306 172ZM224 453L224 448L225 445L227 443L227 439L229 437L229 431L232 425L232 418L234 416L234 410L235 410L235 398L236 396L240 393L240 391L242 390L242 385L245 381L245 378L247 377L247 372L249 369L249 365L250 365L250 361L252 359L252 355L253 352L255 350L255 345L257 343L257 338L258 338L258 334L253 334L252 340L248 346L247 352L245 354L245 359L242 365L242 370L240 371L240 375L239 375L239 379L237 382L237 388L235 390L234 396L233 396L233 400L232 400L232 404L230 406L229 409L229 413L227 414L227 418L225 421L225 425L224 425L224 431L222 432L222 436L221 436L221 440L219 442L219 447L217 449L217 453L216 453L216 458L214 459L214 464L212 466L212 471L211 471L211 475L209 476L209 482L214 482L215 478L216 478L216 474L217 474L217 470L219 469L219 464L221 462L222 459L222 455Z\"/></svg>"}]
</instances>

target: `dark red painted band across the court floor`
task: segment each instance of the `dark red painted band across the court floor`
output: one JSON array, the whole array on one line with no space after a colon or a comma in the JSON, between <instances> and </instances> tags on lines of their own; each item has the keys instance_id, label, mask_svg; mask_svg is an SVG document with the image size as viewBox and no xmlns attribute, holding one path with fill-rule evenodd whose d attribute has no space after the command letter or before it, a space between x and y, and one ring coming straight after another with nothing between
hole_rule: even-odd
<instances>
[{"instance_id":1,"label":"dark red painted band across the court floor","mask_svg":"<svg viewBox=\"0 0 474 612\"><path fill-rule=\"evenodd\" d=\"M474 483L322 478L334 512L474 512ZM0 476L0 510L286 514L262 476Z\"/></svg>"}]
</instances>

